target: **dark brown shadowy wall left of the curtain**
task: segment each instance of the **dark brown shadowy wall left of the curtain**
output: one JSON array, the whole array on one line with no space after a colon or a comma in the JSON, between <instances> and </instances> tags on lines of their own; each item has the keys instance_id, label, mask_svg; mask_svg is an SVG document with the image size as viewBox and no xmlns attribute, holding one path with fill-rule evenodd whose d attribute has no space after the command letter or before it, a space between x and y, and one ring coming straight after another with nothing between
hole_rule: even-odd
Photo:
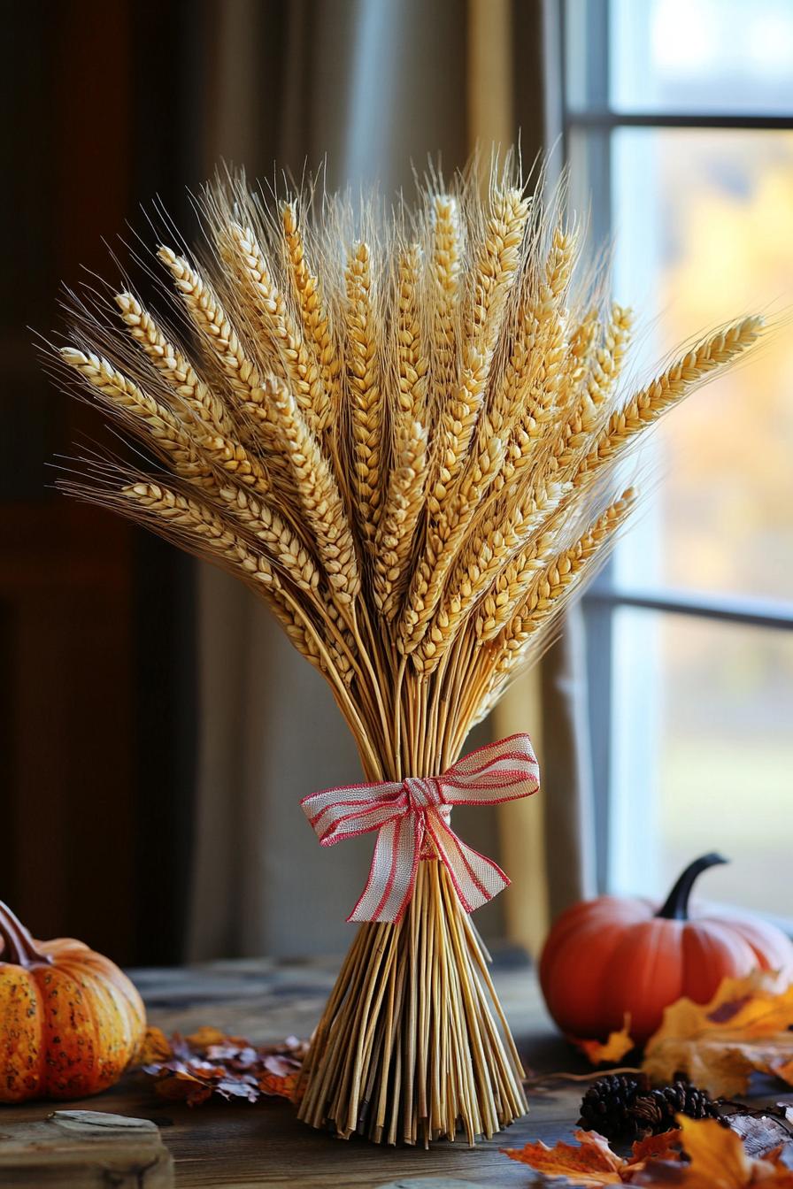
<instances>
[{"instance_id":1,"label":"dark brown shadowy wall left of the curtain","mask_svg":"<svg viewBox=\"0 0 793 1189\"><path fill-rule=\"evenodd\" d=\"M61 284L114 276L108 240L159 195L189 227L202 177L207 10L1 6L0 899L34 933L122 962L180 957L195 756L188 559L54 489L111 439L58 394L34 332ZM63 463L68 465L68 463Z\"/></svg>"}]
</instances>

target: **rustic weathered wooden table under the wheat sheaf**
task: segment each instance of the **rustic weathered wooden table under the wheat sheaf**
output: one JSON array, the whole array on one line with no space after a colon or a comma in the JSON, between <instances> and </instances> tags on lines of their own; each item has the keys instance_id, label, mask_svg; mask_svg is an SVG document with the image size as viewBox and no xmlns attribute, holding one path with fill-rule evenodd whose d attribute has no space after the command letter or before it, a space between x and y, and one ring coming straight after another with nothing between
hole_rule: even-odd
<instances>
[{"instance_id":1,"label":"rustic weathered wooden table under the wheat sheaf","mask_svg":"<svg viewBox=\"0 0 793 1189\"><path fill-rule=\"evenodd\" d=\"M189 1033L203 1024L254 1042L308 1036L333 984L338 963L214 963L190 969L134 974L152 1024L165 1032ZM535 1071L583 1070L569 1046L554 1033L536 981L525 961L504 954L495 981L527 1068ZM499 1152L529 1139L553 1144L569 1137L580 1101L574 1083L550 1082L530 1094L531 1109L509 1131L471 1150L462 1143L423 1149L389 1149L364 1140L347 1143L298 1122L287 1101L257 1105L206 1103L197 1108L157 1099L141 1074L75 1108L108 1111L155 1120L176 1160L180 1189L251 1185L378 1187L398 1182L421 1189L467 1183L499 1189L530 1183L529 1170ZM4 1130L14 1121L39 1120L51 1103L2 1108Z\"/></svg>"}]
</instances>

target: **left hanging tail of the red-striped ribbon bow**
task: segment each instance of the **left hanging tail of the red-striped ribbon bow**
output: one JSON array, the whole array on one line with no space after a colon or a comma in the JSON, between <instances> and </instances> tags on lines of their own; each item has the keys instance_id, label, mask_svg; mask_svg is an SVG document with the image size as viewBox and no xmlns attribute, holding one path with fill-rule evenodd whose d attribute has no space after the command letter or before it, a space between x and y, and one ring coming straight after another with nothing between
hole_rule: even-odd
<instances>
[{"instance_id":1,"label":"left hanging tail of the red-striped ribbon bow","mask_svg":"<svg viewBox=\"0 0 793 1189\"><path fill-rule=\"evenodd\" d=\"M422 835L414 813L380 826L366 887L347 920L399 920L413 895Z\"/></svg>"}]
</instances>

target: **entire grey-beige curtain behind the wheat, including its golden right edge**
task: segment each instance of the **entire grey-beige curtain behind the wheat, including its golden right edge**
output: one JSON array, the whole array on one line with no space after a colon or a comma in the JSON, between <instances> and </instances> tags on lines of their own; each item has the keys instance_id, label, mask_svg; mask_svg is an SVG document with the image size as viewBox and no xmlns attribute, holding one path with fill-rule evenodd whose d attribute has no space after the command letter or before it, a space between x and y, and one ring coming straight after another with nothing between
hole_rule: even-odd
<instances>
[{"instance_id":1,"label":"entire grey-beige curtain behind the wheat, including its golden right edge","mask_svg":"<svg viewBox=\"0 0 793 1189\"><path fill-rule=\"evenodd\" d=\"M518 75L523 152L543 137L539 0L210 0L206 168L220 158L272 176L327 155L327 184L413 188L413 164L443 166L470 147L511 143ZM518 40L520 44L518 44ZM515 71L512 63L520 62ZM527 74L528 73L528 74ZM346 949L345 916L371 839L316 845L298 801L354 779L358 761L321 678L227 575L200 567L201 753L195 820L193 958ZM530 729L545 761L540 797L503 814L455 816L501 854L514 887L478 914L490 937L536 948L548 913L586 883L580 682L566 637L540 677L515 686L484 730ZM540 704L545 707L540 725ZM550 786L550 787L549 787ZM550 801L554 804L552 805Z\"/></svg>"}]
</instances>

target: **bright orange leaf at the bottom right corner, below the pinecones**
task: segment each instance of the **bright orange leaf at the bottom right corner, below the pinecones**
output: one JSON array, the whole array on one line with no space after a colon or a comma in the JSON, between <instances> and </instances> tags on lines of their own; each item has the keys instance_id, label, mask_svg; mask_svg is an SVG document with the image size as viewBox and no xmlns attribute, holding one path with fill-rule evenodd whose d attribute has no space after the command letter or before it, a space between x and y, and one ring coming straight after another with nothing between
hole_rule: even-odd
<instances>
[{"instance_id":1,"label":"bright orange leaf at the bottom right corner, below the pinecones","mask_svg":"<svg viewBox=\"0 0 793 1189\"><path fill-rule=\"evenodd\" d=\"M680 1119L681 1140L688 1164L672 1166L650 1162L637 1175L638 1185L676 1185L680 1189L793 1189L793 1170L780 1163L780 1152L756 1159L734 1131L715 1119Z\"/></svg>"}]
</instances>

